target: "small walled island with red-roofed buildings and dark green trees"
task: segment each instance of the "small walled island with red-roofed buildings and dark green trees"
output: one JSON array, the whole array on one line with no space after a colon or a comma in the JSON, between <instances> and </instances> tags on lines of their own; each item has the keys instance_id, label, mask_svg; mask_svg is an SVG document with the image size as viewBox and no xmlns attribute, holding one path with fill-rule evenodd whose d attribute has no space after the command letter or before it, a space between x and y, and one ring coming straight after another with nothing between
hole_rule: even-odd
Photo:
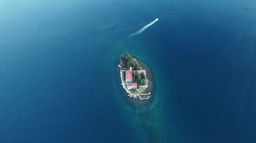
<instances>
[{"instance_id":1,"label":"small walled island with red-roofed buildings and dark green trees","mask_svg":"<svg viewBox=\"0 0 256 143\"><path fill-rule=\"evenodd\" d=\"M150 92L145 93L148 88L146 70L143 70L138 61L127 52L121 54L120 64L121 85L129 97L140 100L150 99Z\"/></svg>"}]
</instances>

